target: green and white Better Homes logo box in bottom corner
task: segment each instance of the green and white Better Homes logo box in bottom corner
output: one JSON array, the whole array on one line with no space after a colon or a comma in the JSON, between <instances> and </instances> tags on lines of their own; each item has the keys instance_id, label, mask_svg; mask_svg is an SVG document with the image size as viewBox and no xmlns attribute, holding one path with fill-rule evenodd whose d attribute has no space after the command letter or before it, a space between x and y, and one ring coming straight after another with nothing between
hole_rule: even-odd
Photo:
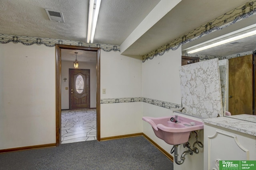
<instances>
[{"instance_id":1,"label":"green and white Better Homes logo box in bottom corner","mask_svg":"<svg viewBox=\"0 0 256 170\"><path fill-rule=\"evenodd\" d=\"M220 170L256 170L256 160L220 160Z\"/></svg>"}]
</instances>

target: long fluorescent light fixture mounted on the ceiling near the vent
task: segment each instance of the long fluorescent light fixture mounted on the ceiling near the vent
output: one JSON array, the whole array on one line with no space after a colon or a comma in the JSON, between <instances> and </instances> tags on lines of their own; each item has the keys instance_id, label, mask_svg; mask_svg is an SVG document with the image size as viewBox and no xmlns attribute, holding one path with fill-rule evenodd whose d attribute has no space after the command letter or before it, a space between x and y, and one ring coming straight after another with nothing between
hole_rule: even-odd
<instances>
[{"instance_id":1,"label":"long fluorescent light fixture mounted on the ceiling near the vent","mask_svg":"<svg viewBox=\"0 0 256 170\"><path fill-rule=\"evenodd\" d=\"M88 13L87 43L93 43L101 0L90 0Z\"/></svg>"}]
</instances>

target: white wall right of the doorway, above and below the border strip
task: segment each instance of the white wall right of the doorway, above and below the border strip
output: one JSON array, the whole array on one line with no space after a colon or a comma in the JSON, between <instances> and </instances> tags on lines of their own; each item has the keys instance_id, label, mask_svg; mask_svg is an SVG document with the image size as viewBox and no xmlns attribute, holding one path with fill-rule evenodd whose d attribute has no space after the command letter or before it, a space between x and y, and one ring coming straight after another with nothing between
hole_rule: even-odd
<instances>
[{"instance_id":1,"label":"white wall right of the doorway, above and below the border strip","mask_svg":"<svg viewBox=\"0 0 256 170\"><path fill-rule=\"evenodd\" d=\"M100 53L100 98L141 97L142 58L114 51ZM141 133L142 102L101 104L100 119L101 137Z\"/></svg>"}]
</instances>

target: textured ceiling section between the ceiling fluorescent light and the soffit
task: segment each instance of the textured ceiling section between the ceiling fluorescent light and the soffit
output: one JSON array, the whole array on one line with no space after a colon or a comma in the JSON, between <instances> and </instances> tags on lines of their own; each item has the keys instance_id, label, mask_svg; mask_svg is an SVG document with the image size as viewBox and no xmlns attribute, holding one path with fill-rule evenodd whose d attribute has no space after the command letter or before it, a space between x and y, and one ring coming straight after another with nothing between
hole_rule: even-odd
<instances>
[{"instance_id":1,"label":"textured ceiling section between the ceiling fluorescent light and the soffit","mask_svg":"<svg viewBox=\"0 0 256 170\"><path fill-rule=\"evenodd\" d=\"M94 42L121 45L160 0L102 0Z\"/></svg>"}]
</instances>

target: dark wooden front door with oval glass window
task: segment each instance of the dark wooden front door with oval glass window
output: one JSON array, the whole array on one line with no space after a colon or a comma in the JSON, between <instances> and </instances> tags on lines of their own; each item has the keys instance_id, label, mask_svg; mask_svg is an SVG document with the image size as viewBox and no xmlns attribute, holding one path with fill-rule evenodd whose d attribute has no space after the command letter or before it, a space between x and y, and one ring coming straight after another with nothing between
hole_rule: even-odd
<instances>
[{"instance_id":1,"label":"dark wooden front door with oval glass window","mask_svg":"<svg viewBox=\"0 0 256 170\"><path fill-rule=\"evenodd\" d=\"M90 70L69 69L69 108L90 108Z\"/></svg>"}]
</instances>

